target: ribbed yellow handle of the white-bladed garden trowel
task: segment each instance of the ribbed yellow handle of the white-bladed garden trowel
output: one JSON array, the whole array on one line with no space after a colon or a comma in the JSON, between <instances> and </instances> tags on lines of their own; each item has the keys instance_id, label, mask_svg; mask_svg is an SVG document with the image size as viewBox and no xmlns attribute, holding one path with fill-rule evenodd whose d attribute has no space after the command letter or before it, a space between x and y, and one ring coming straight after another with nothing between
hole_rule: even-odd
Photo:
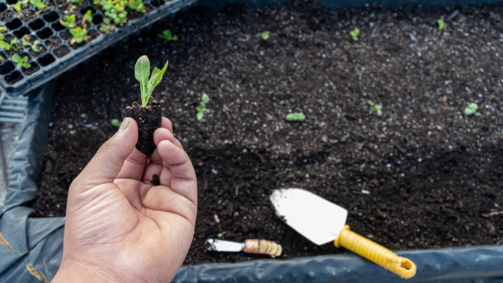
<instances>
[{"instance_id":1,"label":"ribbed yellow handle of the white-bladed garden trowel","mask_svg":"<svg viewBox=\"0 0 503 283\"><path fill-rule=\"evenodd\" d=\"M415 264L410 259L398 256L385 247L356 234L349 229L348 225L339 233L333 244L338 248L345 247L402 278L408 279L415 275Z\"/></svg>"}]
</instances>

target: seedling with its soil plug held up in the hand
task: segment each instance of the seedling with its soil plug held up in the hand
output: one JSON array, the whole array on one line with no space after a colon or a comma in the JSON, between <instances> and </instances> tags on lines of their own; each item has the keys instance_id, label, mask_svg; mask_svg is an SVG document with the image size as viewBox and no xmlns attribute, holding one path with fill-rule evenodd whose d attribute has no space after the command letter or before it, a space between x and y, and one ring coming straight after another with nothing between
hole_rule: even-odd
<instances>
[{"instance_id":1,"label":"seedling with its soil plug held up in the hand","mask_svg":"<svg viewBox=\"0 0 503 283\"><path fill-rule=\"evenodd\" d=\"M136 148L146 155L150 156L155 150L154 131L160 127L162 119L162 109L160 103L155 99L150 101L152 92L162 80L166 72L167 61L162 69L154 68L150 75L150 61L147 56L141 56L134 65L134 77L140 82L141 105L133 102L132 106L124 109L126 117L131 117L138 123L138 143ZM150 79L148 78L150 75Z\"/></svg>"}]
</instances>

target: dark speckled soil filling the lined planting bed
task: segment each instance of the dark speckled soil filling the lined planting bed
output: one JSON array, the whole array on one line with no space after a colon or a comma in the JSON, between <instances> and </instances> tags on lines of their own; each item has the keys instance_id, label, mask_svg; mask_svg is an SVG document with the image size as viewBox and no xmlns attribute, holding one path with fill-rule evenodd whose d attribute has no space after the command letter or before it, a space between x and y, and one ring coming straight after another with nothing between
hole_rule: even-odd
<instances>
[{"instance_id":1,"label":"dark speckled soil filling the lined planting bed","mask_svg":"<svg viewBox=\"0 0 503 283\"><path fill-rule=\"evenodd\" d=\"M277 241L280 258L342 252L275 216L269 194L281 187L346 207L355 232L391 249L501 244L501 15L501 4L332 12L310 1L181 12L59 78L34 207L64 216L70 182L117 130L109 121L139 99L133 68L148 55L170 60L154 96L199 181L187 264L261 258L205 251L219 234ZM164 29L179 40L157 38ZM471 102L479 110L465 117Z\"/></svg>"}]
</instances>

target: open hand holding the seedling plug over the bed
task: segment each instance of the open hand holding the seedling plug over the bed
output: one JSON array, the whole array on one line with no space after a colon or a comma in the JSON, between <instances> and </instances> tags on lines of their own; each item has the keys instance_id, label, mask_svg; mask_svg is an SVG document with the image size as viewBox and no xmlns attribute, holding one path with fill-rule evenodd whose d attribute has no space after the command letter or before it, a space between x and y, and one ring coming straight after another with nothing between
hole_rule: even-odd
<instances>
[{"instance_id":1,"label":"open hand holding the seedling plug over the bed","mask_svg":"<svg viewBox=\"0 0 503 283\"><path fill-rule=\"evenodd\" d=\"M194 167L166 118L148 163L137 139L136 121L124 119L71 183L53 282L169 282L182 265L197 214Z\"/></svg>"}]
</instances>

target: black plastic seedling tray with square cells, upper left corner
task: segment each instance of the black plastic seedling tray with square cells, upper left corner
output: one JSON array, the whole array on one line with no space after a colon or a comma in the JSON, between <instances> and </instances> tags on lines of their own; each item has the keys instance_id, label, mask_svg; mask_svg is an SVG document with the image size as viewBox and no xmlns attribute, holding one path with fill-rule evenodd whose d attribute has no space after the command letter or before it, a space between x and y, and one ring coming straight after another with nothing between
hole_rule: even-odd
<instances>
[{"instance_id":1,"label":"black plastic seedling tray with square cells, upper left corner","mask_svg":"<svg viewBox=\"0 0 503 283\"><path fill-rule=\"evenodd\" d=\"M29 16L18 17L17 12L11 7L17 0L0 0L0 26L6 27L4 31L0 32L4 33L5 41L17 38L19 45L21 45L21 38L25 34L29 34L31 42L40 41L39 47L41 49L36 53L29 46L22 46L23 49L17 52L22 57L28 56L29 63L32 65L29 69L16 69L11 60L11 55L16 52L10 51L8 53L1 50L0 55L6 60L0 61L0 88L10 96L25 94L110 45L197 1L144 0L147 11L145 14L129 12L127 24L123 27L115 27L115 30L110 33L102 33L99 30L104 18L102 10L91 4L83 5L81 9L72 14L81 18L83 13L91 10L95 25L88 26L88 36L90 36L88 41L76 45L70 44L71 35L68 28L59 23L59 19L64 15L58 13L55 7L51 6L51 10L44 13L37 13L34 9L26 8L23 11ZM138 18L131 19L135 16Z\"/></svg>"}]
</instances>

